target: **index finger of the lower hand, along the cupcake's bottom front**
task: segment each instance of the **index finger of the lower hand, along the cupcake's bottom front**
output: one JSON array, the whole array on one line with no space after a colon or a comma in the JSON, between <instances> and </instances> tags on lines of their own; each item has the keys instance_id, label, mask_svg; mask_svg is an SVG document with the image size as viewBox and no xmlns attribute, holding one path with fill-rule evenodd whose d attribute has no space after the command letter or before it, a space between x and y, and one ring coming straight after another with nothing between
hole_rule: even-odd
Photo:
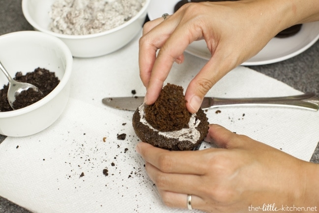
<instances>
[{"instance_id":1,"label":"index finger of the lower hand, along the cupcake's bottom front","mask_svg":"<svg viewBox=\"0 0 319 213\"><path fill-rule=\"evenodd\" d=\"M168 151L141 142L136 150L145 161L165 173L203 175L206 173L205 150ZM208 157L208 156L207 156Z\"/></svg>"}]
</instances>

